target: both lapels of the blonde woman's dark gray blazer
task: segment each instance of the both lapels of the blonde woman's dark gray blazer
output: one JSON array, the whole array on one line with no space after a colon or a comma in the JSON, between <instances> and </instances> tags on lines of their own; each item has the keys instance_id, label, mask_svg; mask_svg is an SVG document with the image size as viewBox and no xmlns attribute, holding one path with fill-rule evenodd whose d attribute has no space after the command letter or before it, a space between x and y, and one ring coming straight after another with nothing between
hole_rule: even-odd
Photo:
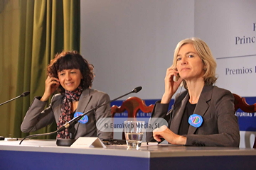
<instances>
[{"instance_id":1,"label":"both lapels of the blonde woman's dark gray blazer","mask_svg":"<svg viewBox=\"0 0 256 170\"><path fill-rule=\"evenodd\" d=\"M203 90L201 92L198 103L196 104L194 113L201 115L203 117L203 115L206 113L209 107L208 101L210 101L212 97L212 93L213 93L212 85L203 86ZM176 134L178 134L178 129L181 124L181 118L185 111L186 103L188 102L188 99L189 99L188 91L184 91L181 95L179 95L176 98L176 103L174 105L174 113L173 113L174 118L173 120L171 120L171 126L170 126L170 129ZM196 127L193 127L190 125L188 128L188 135L194 134L194 132L196 132L196 129L197 129Z\"/></svg>"}]
</instances>

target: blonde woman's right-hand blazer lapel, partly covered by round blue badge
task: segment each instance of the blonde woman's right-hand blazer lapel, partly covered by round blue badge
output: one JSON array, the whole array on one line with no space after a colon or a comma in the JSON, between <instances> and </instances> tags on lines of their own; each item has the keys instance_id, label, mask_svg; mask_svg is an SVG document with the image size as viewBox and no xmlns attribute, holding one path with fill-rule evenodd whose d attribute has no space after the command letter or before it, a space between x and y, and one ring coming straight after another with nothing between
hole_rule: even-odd
<instances>
[{"instance_id":1,"label":"blonde woman's right-hand blazer lapel, partly covered by round blue badge","mask_svg":"<svg viewBox=\"0 0 256 170\"><path fill-rule=\"evenodd\" d=\"M196 104L196 108L193 114L201 115L203 118L203 115L206 113L206 111L209 108L208 101L210 101L212 97L212 92L213 92L213 86L211 85L203 86L203 91L200 95L198 103ZM196 129L197 129L196 127L189 125L188 135L194 134L196 132Z\"/></svg>"}]
</instances>

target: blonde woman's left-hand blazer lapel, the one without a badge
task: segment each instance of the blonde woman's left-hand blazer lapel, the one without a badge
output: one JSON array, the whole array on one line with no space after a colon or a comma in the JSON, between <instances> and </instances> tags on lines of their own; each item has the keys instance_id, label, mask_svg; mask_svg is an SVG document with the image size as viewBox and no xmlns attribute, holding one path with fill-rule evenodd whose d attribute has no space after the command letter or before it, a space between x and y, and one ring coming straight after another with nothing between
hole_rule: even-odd
<instances>
[{"instance_id":1,"label":"blonde woman's left-hand blazer lapel, the one without a badge","mask_svg":"<svg viewBox=\"0 0 256 170\"><path fill-rule=\"evenodd\" d=\"M188 102L189 94L187 93L185 98L182 101L176 103L174 106L174 118L171 120L170 130L176 134L178 134L178 129L181 125L181 118L186 108L186 103ZM177 111L175 108L179 108Z\"/></svg>"}]
</instances>

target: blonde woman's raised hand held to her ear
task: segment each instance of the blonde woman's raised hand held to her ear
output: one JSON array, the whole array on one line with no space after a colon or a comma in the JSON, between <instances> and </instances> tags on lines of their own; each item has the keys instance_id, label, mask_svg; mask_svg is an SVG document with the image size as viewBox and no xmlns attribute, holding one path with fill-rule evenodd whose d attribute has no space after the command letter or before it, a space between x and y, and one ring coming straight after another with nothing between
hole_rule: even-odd
<instances>
[{"instance_id":1,"label":"blonde woman's raised hand held to her ear","mask_svg":"<svg viewBox=\"0 0 256 170\"><path fill-rule=\"evenodd\" d=\"M166 70L166 77L164 78L164 95L161 98L161 103L169 103L171 97L174 96L175 92L178 89L178 86L181 84L182 79L179 78L178 81L174 81L174 76L178 76L178 71L169 67Z\"/></svg>"}]
</instances>

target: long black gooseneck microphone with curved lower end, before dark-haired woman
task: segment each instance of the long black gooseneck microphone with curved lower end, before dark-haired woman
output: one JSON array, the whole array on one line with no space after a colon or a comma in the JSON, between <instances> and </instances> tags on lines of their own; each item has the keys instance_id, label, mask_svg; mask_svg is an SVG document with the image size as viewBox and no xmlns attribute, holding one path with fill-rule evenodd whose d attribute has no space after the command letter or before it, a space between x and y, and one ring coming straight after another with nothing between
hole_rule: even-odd
<instances>
[{"instance_id":1,"label":"long black gooseneck microphone with curved lower end, before dark-haired woman","mask_svg":"<svg viewBox=\"0 0 256 170\"><path fill-rule=\"evenodd\" d=\"M90 109L89 111L87 111L87 112L85 112L85 113L82 113L82 115L78 115L78 117L75 117L75 118L73 118L72 120L68 121L68 123L65 123L65 124L62 125L60 128L58 128L58 130L55 130L54 132L43 133L43 134L35 134L35 135L29 135L29 136L24 137L24 138L21 140L21 142L22 142L23 140L25 140L26 138L28 138L28 137L36 137L36 136L42 136L42 135L50 135L50 134L53 134L53 133L55 133L55 132L61 132L61 131L65 130L65 129L69 128L70 125L75 125L75 123L78 123L78 120L80 120L80 119L81 119L84 115L86 115L87 113L90 113L90 112L92 112L92 111L95 111L97 108L100 108L100 107L102 107L102 106L105 106L105 105L111 103L112 101L116 101L116 100L119 99L119 98L122 98L122 97L124 97L124 96L127 96L128 94L138 93L138 92L141 91L141 90L142 90L142 86L138 86L138 87L134 88L132 91L130 91L130 92L127 93L127 94L124 94L124 95L122 95L122 96L119 96L118 98L114 98L113 100L108 101L107 103L104 103L104 104L102 104L102 105L96 106L95 108L92 108L92 109ZM19 143L20 145L21 145L21 142Z\"/></svg>"}]
</instances>

